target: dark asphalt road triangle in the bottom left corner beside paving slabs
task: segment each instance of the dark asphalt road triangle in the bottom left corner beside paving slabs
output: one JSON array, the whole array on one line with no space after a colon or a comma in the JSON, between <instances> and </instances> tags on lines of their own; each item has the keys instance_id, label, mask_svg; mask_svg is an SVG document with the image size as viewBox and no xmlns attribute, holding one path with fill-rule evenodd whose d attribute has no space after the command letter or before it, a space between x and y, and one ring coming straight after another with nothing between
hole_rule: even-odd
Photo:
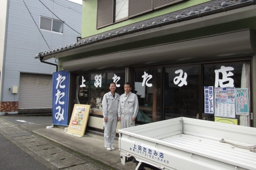
<instances>
[{"instance_id":1,"label":"dark asphalt road triangle in the bottom left corner beside paving slabs","mask_svg":"<svg viewBox=\"0 0 256 170\"><path fill-rule=\"evenodd\" d=\"M0 169L47 170L45 165L0 134Z\"/></svg>"}]
</instances>

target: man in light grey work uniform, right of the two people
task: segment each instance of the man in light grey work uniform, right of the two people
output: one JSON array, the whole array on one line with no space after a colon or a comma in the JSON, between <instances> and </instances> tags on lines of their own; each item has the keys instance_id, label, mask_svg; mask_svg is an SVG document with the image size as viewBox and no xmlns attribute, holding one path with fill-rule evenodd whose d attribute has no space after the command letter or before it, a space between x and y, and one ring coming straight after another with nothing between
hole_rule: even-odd
<instances>
[{"instance_id":1,"label":"man in light grey work uniform, right of the two people","mask_svg":"<svg viewBox=\"0 0 256 170\"><path fill-rule=\"evenodd\" d=\"M118 104L118 121L121 121L121 129L135 126L139 102L137 95L132 93L131 90L131 84L128 82L125 83L125 93L120 96Z\"/></svg>"}]
</instances>

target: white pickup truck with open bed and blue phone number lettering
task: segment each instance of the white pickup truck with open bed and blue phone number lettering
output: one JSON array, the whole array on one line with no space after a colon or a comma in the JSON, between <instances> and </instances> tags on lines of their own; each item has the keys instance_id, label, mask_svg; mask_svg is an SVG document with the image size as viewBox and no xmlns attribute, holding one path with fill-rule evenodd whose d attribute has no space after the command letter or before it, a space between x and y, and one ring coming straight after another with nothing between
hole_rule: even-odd
<instances>
[{"instance_id":1,"label":"white pickup truck with open bed and blue phone number lettering","mask_svg":"<svg viewBox=\"0 0 256 170\"><path fill-rule=\"evenodd\" d=\"M256 128L180 117L118 133L122 164L135 170L256 170Z\"/></svg>"}]
</instances>

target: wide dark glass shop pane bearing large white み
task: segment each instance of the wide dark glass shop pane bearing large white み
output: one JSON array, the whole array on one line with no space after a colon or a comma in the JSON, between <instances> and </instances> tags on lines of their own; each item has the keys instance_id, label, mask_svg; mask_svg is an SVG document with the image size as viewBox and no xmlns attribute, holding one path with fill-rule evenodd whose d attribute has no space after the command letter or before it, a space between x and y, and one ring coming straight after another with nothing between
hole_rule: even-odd
<instances>
[{"instance_id":1,"label":"wide dark glass shop pane bearing large white \u307f","mask_svg":"<svg viewBox=\"0 0 256 170\"><path fill-rule=\"evenodd\" d=\"M199 113L199 67L166 68L164 73L165 119L196 118Z\"/></svg>"}]
</instances>

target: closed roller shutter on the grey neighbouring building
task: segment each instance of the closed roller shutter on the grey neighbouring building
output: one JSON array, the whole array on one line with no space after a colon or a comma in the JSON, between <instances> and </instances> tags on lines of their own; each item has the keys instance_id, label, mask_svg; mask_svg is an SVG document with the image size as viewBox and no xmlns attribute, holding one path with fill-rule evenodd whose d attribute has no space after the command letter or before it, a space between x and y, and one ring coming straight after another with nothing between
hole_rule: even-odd
<instances>
[{"instance_id":1,"label":"closed roller shutter on the grey neighbouring building","mask_svg":"<svg viewBox=\"0 0 256 170\"><path fill-rule=\"evenodd\" d=\"M52 108L52 75L20 74L18 109Z\"/></svg>"}]
</instances>

